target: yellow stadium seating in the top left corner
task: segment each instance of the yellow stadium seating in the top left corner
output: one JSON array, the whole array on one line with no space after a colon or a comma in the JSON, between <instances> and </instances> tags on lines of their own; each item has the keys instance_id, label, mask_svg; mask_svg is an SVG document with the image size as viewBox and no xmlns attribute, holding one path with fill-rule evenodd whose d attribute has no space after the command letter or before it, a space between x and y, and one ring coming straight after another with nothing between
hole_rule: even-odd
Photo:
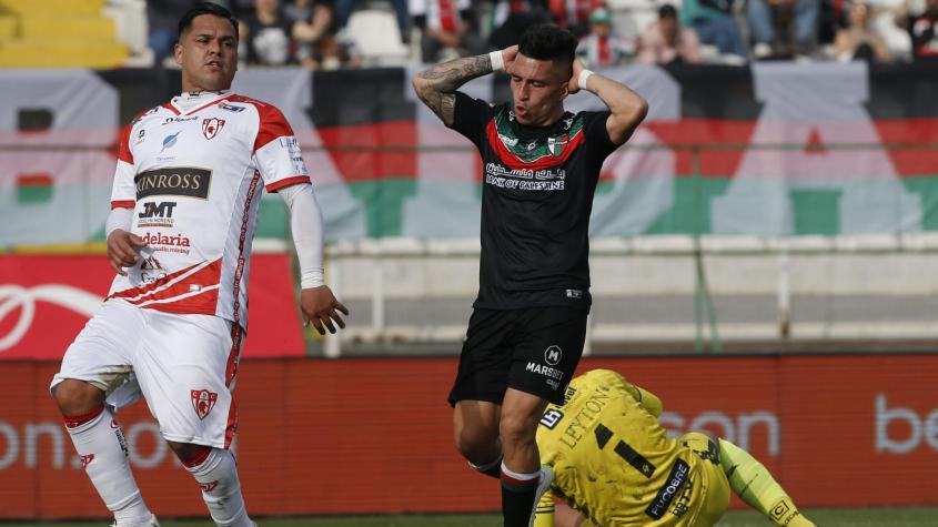
<instances>
[{"instance_id":1,"label":"yellow stadium seating in the top left corner","mask_svg":"<svg viewBox=\"0 0 938 527\"><path fill-rule=\"evenodd\" d=\"M0 68L113 68L129 57L104 0L0 0Z\"/></svg>"}]
</instances>

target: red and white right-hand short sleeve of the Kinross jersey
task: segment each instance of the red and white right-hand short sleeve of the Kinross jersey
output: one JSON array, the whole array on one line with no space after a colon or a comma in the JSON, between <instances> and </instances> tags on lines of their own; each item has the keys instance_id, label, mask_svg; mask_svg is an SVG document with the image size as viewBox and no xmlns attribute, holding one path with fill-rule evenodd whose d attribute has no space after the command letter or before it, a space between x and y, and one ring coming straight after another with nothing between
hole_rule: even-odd
<instances>
[{"instance_id":1,"label":"red and white right-hand short sleeve of the Kinross jersey","mask_svg":"<svg viewBox=\"0 0 938 527\"><path fill-rule=\"evenodd\" d=\"M258 107L260 123L254 140L254 160L264 188L276 192L285 186L310 183L310 172L300 142L286 118L274 107Z\"/></svg>"}]
</instances>

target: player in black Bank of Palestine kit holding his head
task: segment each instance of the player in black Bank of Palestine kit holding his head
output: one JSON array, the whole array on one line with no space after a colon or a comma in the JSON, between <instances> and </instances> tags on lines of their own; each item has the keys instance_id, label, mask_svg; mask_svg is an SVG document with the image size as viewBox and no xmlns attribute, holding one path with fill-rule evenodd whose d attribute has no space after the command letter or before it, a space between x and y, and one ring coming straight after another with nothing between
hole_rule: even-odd
<instances>
[{"instance_id":1,"label":"player in black Bank of Palestine kit holding his head","mask_svg":"<svg viewBox=\"0 0 938 527\"><path fill-rule=\"evenodd\" d=\"M627 87L583 68L576 38L556 26L517 45L417 74L414 90L482 154L482 260L456 381L450 393L456 447L502 480L505 526L528 526L551 485L535 442L548 402L561 403L579 362L589 311L589 212L603 160L647 112ZM504 70L512 103L456 90ZM573 114L586 90L608 107Z\"/></svg>"}]
</instances>

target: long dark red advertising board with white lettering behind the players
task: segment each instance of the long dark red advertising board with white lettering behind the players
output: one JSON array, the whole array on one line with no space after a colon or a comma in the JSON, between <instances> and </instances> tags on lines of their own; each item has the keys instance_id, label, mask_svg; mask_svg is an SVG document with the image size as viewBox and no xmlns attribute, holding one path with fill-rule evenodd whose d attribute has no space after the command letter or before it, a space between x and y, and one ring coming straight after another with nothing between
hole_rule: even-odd
<instances>
[{"instance_id":1,"label":"long dark red advertising board with white lettering behind the players","mask_svg":"<svg viewBox=\"0 0 938 527\"><path fill-rule=\"evenodd\" d=\"M492 511L452 445L453 358L250 361L238 454L254 515ZM938 505L938 355L586 359L760 458L801 507ZM0 518L104 517L51 399L54 363L0 363ZM204 516L145 405L119 414L148 504ZM738 506L738 503L737 503Z\"/></svg>"}]
</instances>

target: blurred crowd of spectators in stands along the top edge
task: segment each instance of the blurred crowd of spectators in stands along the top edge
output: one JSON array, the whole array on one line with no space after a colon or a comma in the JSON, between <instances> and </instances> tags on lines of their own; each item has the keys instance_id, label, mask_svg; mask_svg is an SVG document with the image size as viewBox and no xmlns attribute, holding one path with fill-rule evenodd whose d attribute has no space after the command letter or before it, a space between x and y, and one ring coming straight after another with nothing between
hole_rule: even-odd
<instances>
[{"instance_id":1,"label":"blurred crowd of spectators in stands along the top edge","mask_svg":"<svg viewBox=\"0 0 938 527\"><path fill-rule=\"evenodd\" d=\"M313 70L430 63L502 49L531 24L581 39L591 68L749 60L938 58L938 0L216 0L246 65ZM172 65L194 0L148 1L150 47Z\"/></svg>"}]
</instances>

